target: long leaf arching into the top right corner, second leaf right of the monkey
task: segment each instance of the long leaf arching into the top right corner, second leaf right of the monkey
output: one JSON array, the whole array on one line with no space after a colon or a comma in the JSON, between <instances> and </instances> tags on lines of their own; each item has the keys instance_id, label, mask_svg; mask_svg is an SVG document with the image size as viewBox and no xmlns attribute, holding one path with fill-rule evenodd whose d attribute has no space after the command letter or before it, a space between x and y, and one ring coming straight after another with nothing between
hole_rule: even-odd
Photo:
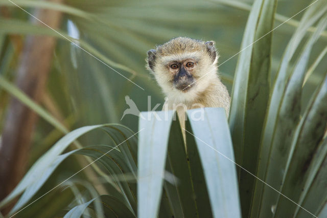
<instances>
[{"instance_id":1,"label":"long leaf arching into the top right corner, second leaf right of the monkey","mask_svg":"<svg viewBox=\"0 0 327 218\"><path fill-rule=\"evenodd\" d=\"M300 21L299 28L294 33L285 50L281 66L276 75L264 123L264 130L260 146L259 164L258 170L256 172L256 176L258 176L260 179L263 179L268 184L270 183L270 181L266 181L267 175L272 178L277 175L279 178L282 176L281 173L279 173L280 170L274 172L270 171L269 173L267 173L267 168L269 167L270 160L272 160L270 158L271 151L277 151L278 144L279 146L281 146L280 150L282 152L282 156L280 158L283 159L281 161L284 161L285 164L285 159L287 158L287 150L284 150L283 152L282 147L286 146L285 148L287 148L288 143L286 140L290 141L292 139L295 126L297 125L299 119L299 101L296 101L293 104L292 100L298 99L300 96L301 84L307 65L307 61L302 63L300 62L300 58L304 58L306 55L308 55L308 51L302 53L303 56L300 56L293 71L289 71L290 60L295 52L294 48L297 48L300 41L305 36L306 28L310 27L313 23L315 23L326 10L327 6L325 6L323 2L319 1L307 9ZM315 40L310 43L313 43L314 41ZM309 51L311 46L312 45L307 47ZM297 71L297 69L299 70ZM290 76L291 72L293 76ZM287 100L285 97L287 98ZM273 144L273 147L275 147L274 149L272 149ZM273 163L277 164L279 162L278 160L274 160ZM283 167L285 167L285 165ZM279 189L281 185L280 182L281 181L279 181L278 184L277 182L272 184L272 187ZM261 207L262 194L264 188L269 193L275 192L261 181L256 180L251 207L251 216L253 217L259 216L260 211L265 211L265 213L269 213L271 215L271 206L275 202L272 204L271 202L270 204L266 202L265 208L262 209Z\"/></svg>"}]
</instances>

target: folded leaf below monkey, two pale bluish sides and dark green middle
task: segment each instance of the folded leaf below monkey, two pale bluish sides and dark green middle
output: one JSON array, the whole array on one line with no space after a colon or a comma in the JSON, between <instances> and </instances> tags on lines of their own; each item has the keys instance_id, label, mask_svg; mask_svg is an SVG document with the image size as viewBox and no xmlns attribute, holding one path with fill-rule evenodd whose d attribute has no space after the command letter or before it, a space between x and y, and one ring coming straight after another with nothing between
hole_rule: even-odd
<instances>
[{"instance_id":1,"label":"folded leaf below monkey, two pale bluish sides and dark green middle","mask_svg":"<svg viewBox=\"0 0 327 218\"><path fill-rule=\"evenodd\" d=\"M140 119L140 128L147 131L139 136L138 167L142 176L139 174L138 216L156 217L167 155L166 169L177 179L173 177L172 184L165 182L164 197L161 198L161 206L165 208L160 208L160 212L166 209L166 214L172 212L176 217L241 217L236 167L224 110L200 108L188 111L187 152L178 122L171 121L173 112L156 113L160 119L165 113L169 116L164 121L154 121L154 115L149 112L143 116L152 115L151 119ZM193 120L196 113L202 113L204 118ZM160 134L155 134L158 129ZM196 135L195 140L190 140L192 134Z\"/></svg>"}]
</instances>

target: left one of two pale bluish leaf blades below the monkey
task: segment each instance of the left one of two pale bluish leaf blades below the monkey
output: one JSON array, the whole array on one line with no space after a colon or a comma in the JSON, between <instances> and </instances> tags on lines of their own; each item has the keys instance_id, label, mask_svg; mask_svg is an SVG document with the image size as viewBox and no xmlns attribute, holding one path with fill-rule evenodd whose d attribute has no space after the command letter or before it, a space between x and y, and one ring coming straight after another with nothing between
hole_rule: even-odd
<instances>
[{"instance_id":1,"label":"left one of two pale bluish leaf blades below the monkey","mask_svg":"<svg viewBox=\"0 0 327 218\"><path fill-rule=\"evenodd\" d=\"M138 136L137 217L139 218L157 216L174 113L173 111L141 113L145 119L139 119L139 130L141 130Z\"/></svg>"}]
</instances>

